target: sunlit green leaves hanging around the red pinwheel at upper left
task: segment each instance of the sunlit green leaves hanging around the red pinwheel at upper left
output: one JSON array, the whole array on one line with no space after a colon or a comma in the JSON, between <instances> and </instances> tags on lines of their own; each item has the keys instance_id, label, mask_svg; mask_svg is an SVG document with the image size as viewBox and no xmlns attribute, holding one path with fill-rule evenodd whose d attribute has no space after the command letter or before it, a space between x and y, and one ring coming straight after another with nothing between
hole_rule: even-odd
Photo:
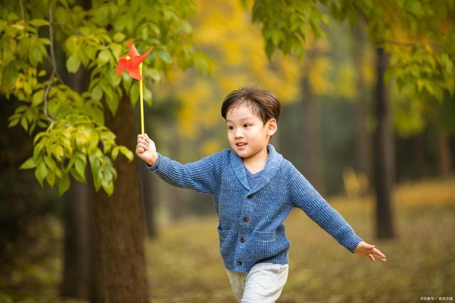
<instances>
[{"instance_id":1,"label":"sunlit green leaves hanging around the red pinwheel at upper left","mask_svg":"<svg viewBox=\"0 0 455 303\"><path fill-rule=\"evenodd\" d=\"M139 52L154 46L144 62L146 80L161 81L173 63L183 70L210 69L208 57L193 50L187 21L196 12L193 1L92 1L91 6L9 1L0 9L0 92L18 101L9 126L20 124L35 145L21 168L35 168L40 184L57 184L60 194L70 187L70 175L85 182L89 165L95 189L110 195L117 175L112 159L119 153L133 159L104 125L105 112L116 114L124 94L133 106L139 98L137 82L115 76L127 40L134 40ZM90 70L90 83L80 94L60 74L82 67ZM144 97L150 104L149 89Z\"/></svg>"}]
</instances>

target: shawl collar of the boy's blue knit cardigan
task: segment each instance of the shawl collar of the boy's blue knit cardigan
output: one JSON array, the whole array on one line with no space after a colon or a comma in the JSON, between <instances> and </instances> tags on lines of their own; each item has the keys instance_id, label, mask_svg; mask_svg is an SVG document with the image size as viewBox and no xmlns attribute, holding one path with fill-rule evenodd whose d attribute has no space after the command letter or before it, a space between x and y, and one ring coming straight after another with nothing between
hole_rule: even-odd
<instances>
[{"instance_id":1,"label":"shawl collar of the boy's blue knit cardigan","mask_svg":"<svg viewBox=\"0 0 455 303\"><path fill-rule=\"evenodd\" d=\"M272 144L267 144L267 151L269 152L269 157L267 158L267 162L265 163L264 170L262 170L262 174L259 177L259 181L257 182L256 186L250 188L250 184L248 183L247 173L245 172L245 165L243 165L242 158L232 150L230 153L230 165L232 166L232 170L234 170L237 179L240 183L248 189L249 194L254 194L255 192L259 192L277 173L279 170L279 165L282 162L283 156L277 153L274 146Z\"/></svg>"}]
</instances>

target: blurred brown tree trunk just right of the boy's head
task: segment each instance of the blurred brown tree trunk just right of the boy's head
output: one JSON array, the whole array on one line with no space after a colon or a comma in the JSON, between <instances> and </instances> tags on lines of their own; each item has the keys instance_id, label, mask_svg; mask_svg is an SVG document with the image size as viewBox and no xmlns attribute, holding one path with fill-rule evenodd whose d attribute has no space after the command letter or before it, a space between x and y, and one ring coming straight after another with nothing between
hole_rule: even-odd
<instances>
[{"instance_id":1,"label":"blurred brown tree trunk just right of the boy's head","mask_svg":"<svg viewBox=\"0 0 455 303\"><path fill-rule=\"evenodd\" d=\"M307 57L311 62L311 55ZM321 104L315 99L311 91L309 82L308 67L304 71L301 79L301 88L303 94L303 113L304 120L304 172L306 178L313 186L323 194L325 186L323 182L322 167L322 143L321 143Z\"/></svg>"}]
</instances>

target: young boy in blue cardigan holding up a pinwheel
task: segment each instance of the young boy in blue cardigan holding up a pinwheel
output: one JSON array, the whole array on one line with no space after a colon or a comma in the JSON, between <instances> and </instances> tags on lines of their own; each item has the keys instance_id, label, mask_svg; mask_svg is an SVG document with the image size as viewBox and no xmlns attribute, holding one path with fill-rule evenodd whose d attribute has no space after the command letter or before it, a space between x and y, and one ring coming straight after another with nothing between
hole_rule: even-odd
<instances>
[{"instance_id":1,"label":"young boy in blue cardigan holding up a pinwheel","mask_svg":"<svg viewBox=\"0 0 455 303\"><path fill-rule=\"evenodd\" d=\"M299 207L351 253L385 255L362 241L269 139L281 105L261 89L228 94L221 115L230 149L182 165L156 153L154 141L137 136L136 153L166 182L212 194L219 218L220 253L238 302L275 302L288 275L289 240L283 221Z\"/></svg>"}]
</instances>

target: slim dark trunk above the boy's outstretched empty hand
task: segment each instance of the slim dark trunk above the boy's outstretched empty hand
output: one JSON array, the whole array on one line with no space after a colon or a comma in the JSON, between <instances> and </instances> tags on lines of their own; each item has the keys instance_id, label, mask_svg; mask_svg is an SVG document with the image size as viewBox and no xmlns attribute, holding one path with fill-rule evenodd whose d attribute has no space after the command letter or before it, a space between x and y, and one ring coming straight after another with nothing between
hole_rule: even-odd
<instances>
[{"instance_id":1,"label":"slim dark trunk above the boy's outstretched empty hand","mask_svg":"<svg viewBox=\"0 0 455 303\"><path fill-rule=\"evenodd\" d=\"M389 99L384 82L387 68L387 55L382 48L377 50L377 92L375 129L375 194L376 194L376 234L378 238L393 238L392 184L394 180L394 145L390 126Z\"/></svg>"}]
</instances>

